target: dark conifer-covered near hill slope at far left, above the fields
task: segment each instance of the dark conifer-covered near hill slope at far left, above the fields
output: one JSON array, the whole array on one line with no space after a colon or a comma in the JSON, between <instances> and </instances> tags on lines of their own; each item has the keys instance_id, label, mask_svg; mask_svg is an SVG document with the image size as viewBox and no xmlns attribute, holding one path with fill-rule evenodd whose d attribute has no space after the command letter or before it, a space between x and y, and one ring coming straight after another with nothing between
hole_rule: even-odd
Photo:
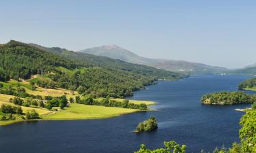
<instances>
[{"instance_id":1,"label":"dark conifer-covered near hill slope at far left, above the fields","mask_svg":"<svg viewBox=\"0 0 256 153\"><path fill-rule=\"evenodd\" d=\"M0 46L0 80L2 81L10 78L28 79L41 69L50 71L54 67L72 69L76 65L65 58L18 41L12 40L8 44Z\"/></svg>"}]
</instances>

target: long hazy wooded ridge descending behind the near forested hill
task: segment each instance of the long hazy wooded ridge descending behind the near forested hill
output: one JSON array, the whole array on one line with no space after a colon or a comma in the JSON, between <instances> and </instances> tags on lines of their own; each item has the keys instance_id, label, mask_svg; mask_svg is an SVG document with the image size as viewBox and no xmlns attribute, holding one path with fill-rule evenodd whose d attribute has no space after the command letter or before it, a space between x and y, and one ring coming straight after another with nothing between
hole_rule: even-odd
<instances>
[{"instance_id":1,"label":"long hazy wooded ridge descending behind the near forested hill","mask_svg":"<svg viewBox=\"0 0 256 153\"><path fill-rule=\"evenodd\" d=\"M178 78L186 77L186 75L184 75L183 73L166 71L164 69L156 69L154 67L149 67L145 65L127 63L125 61L109 58L106 56L96 56L93 54L85 54L82 52L73 52L73 51L69 51L64 48L58 48L58 47L46 48L44 46L40 46L37 44L29 44L29 45L36 48L40 48L41 50L44 50L46 52L63 56L64 58L67 58L71 61L79 61L80 63L83 63L83 65L87 65L90 67L97 66L97 67L104 67L106 69L107 68L120 69L123 71L140 73L142 75L155 76L159 79L178 79Z\"/></svg>"}]
</instances>

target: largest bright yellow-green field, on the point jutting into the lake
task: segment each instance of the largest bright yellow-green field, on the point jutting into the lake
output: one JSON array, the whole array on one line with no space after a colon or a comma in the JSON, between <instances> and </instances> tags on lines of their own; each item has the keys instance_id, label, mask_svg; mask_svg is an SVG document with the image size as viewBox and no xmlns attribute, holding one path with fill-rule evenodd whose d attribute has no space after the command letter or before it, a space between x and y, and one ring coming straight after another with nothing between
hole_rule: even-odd
<instances>
[{"instance_id":1,"label":"largest bright yellow-green field, on the point jutting into the lake","mask_svg":"<svg viewBox=\"0 0 256 153\"><path fill-rule=\"evenodd\" d=\"M139 109L127 109L119 107L104 107L98 105L83 105L72 103L70 107L55 114L45 116L44 120L82 120L96 118L110 118L121 114L137 112Z\"/></svg>"}]
</instances>

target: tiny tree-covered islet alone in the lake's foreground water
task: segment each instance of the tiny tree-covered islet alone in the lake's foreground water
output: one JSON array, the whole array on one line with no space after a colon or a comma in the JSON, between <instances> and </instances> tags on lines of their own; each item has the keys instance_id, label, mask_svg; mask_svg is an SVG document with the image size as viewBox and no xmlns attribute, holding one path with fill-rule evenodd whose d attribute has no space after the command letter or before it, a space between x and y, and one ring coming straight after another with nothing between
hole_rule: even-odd
<instances>
[{"instance_id":1,"label":"tiny tree-covered islet alone in the lake's foreground water","mask_svg":"<svg viewBox=\"0 0 256 153\"><path fill-rule=\"evenodd\" d=\"M144 120L138 124L134 133L140 133L142 131L154 131L156 129L158 129L156 118L154 116L150 116L148 120Z\"/></svg>"}]
</instances>

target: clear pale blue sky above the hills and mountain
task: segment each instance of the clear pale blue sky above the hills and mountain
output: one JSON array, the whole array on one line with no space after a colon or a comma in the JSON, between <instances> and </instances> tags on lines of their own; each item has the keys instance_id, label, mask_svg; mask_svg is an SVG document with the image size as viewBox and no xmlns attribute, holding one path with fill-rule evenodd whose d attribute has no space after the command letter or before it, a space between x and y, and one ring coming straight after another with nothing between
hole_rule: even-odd
<instances>
[{"instance_id":1,"label":"clear pale blue sky above the hills and mountain","mask_svg":"<svg viewBox=\"0 0 256 153\"><path fill-rule=\"evenodd\" d=\"M116 44L149 58L231 69L256 63L256 1L8 0L0 18L0 44Z\"/></svg>"}]
</instances>

